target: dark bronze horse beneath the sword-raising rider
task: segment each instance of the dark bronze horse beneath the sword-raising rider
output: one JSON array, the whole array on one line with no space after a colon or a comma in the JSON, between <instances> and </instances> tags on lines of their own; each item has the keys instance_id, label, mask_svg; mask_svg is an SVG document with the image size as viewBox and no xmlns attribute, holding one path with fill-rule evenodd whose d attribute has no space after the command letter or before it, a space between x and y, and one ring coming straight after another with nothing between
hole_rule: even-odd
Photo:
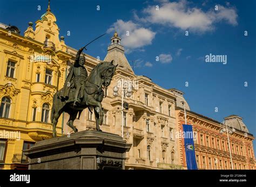
<instances>
[{"instance_id":1,"label":"dark bronze horse beneath the sword-raising rider","mask_svg":"<svg viewBox=\"0 0 256 187\"><path fill-rule=\"evenodd\" d=\"M96 130L101 131L99 125L103 123L103 109L102 100L104 98L104 91L102 87L108 87L116 71L116 66L113 65L113 60L111 62L100 62L91 71L90 75L86 78L85 89L83 91L83 98L79 105L74 106L74 93L75 88L71 88L69 92L69 99L63 101L58 97L59 93L63 91L64 88L60 89L53 96L53 105L51 110L51 122L53 125L52 136L56 137L56 125L58 118L63 112L69 113L70 118L67 123L68 126L72 128L74 132L78 132L77 128L73 126L73 121L76 119L77 114L86 109L87 107L93 107L95 111L96 119ZM91 112L91 111L90 111Z\"/></svg>"}]
</instances>

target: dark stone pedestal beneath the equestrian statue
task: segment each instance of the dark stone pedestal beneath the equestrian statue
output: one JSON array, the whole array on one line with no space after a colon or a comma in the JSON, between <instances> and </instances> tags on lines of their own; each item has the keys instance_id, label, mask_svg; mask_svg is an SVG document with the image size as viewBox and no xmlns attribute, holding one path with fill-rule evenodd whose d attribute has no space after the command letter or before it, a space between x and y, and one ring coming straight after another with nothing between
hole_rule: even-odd
<instances>
[{"instance_id":1,"label":"dark stone pedestal beneath the equestrian statue","mask_svg":"<svg viewBox=\"0 0 256 187\"><path fill-rule=\"evenodd\" d=\"M117 134L82 131L36 142L24 152L29 169L124 169L130 148Z\"/></svg>"}]
</instances>

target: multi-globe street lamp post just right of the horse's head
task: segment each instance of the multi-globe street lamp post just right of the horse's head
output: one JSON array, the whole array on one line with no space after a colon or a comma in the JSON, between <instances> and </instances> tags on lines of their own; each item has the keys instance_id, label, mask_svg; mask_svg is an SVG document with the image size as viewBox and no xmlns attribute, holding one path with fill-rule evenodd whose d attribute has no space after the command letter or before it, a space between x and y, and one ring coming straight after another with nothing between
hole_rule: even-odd
<instances>
[{"instance_id":1,"label":"multi-globe street lamp post just right of the horse's head","mask_svg":"<svg viewBox=\"0 0 256 187\"><path fill-rule=\"evenodd\" d=\"M132 88L127 84L127 82L124 82L123 79L120 80L121 81L121 87L120 87L120 90L121 90L121 97L122 97L122 138L124 138L124 95L126 97L131 97L132 95ZM120 86L118 84L118 86ZM113 96L114 97L117 97L118 96L118 86L114 86L113 88Z\"/></svg>"}]
</instances>

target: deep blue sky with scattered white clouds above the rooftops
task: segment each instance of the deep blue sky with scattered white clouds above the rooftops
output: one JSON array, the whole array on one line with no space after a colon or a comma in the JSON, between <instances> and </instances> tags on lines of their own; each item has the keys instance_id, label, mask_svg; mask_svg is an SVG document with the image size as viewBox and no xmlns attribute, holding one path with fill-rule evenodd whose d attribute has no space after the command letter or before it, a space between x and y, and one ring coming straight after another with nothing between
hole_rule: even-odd
<instances>
[{"instance_id":1,"label":"deep blue sky with scattered white clouds above the rooftops","mask_svg":"<svg viewBox=\"0 0 256 187\"><path fill-rule=\"evenodd\" d=\"M1 0L0 22L19 27L23 34L28 22L35 23L47 5L48 1ZM191 110L204 116L222 121L238 114L250 133L256 134L255 1L55 0L51 11L67 45L80 48L107 32L87 50L104 59L116 27L127 59L136 61L137 75L185 92ZM227 64L206 63L204 57L210 53L227 55Z\"/></svg>"}]
</instances>

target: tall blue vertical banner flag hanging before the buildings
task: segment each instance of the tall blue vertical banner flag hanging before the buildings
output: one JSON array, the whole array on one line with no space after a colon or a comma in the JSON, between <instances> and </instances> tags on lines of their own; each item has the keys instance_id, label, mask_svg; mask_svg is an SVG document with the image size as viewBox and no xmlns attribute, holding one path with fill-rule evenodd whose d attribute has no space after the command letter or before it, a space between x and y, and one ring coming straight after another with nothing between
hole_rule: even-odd
<instances>
[{"instance_id":1,"label":"tall blue vertical banner flag hanging before the buildings","mask_svg":"<svg viewBox=\"0 0 256 187\"><path fill-rule=\"evenodd\" d=\"M194 139L192 125L183 124L184 145L187 169L197 169L196 155L194 153Z\"/></svg>"}]
</instances>

